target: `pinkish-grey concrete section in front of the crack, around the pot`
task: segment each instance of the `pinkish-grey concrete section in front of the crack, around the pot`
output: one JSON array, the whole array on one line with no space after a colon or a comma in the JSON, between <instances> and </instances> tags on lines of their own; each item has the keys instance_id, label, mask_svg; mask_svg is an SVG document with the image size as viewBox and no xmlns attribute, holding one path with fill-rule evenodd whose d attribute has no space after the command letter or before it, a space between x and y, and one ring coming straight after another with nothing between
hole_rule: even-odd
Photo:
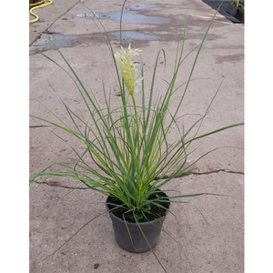
<instances>
[{"instance_id":1,"label":"pinkish-grey concrete section in front of the crack, around the pot","mask_svg":"<svg viewBox=\"0 0 273 273\"><path fill-rule=\"evenodd\" d=\"M175 217L168 214L164 224L167 233L161 234L155 248L167 272L244 271L243 180L243 175L221 172L172 181L172 187L182 193L207 191L226 196L197 197L182 206L171 205ZM105 212L104 201L90 190L71 192L64 187L33 185L30 272L163 272L151 252L136 255L116 245L107 214L45 259L78 228Z\"/></svg>"}]
</instances>

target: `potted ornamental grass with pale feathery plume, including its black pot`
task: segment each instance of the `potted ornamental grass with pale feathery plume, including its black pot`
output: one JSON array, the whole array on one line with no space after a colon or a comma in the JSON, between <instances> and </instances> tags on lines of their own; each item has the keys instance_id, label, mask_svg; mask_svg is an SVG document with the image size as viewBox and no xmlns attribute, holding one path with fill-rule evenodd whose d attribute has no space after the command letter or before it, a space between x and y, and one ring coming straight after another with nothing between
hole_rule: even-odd
<instances>
[{"instance_id":1,"label":"potted ornamental grass with pale feathery plume, including its black pot","mask_svg":"<svg viewBox=\"0 0 273 273\"><path fill-rule=\"evenodd\" d=\"M82 152L72 147L75 159L45 167L41 172L31 175L30 181L40 181L40 178L52 176L72 177L86 187L105 195L106 211L113 221L116 242L127 251L154 251L153 248L157 245L170 203L183 203L179 200L185 197L214 195L213 193L173 195L172 188L168 190L163 188L167 187L173 178L190 173L195 169L197 161L217 149L216 147L209 150L188 163L187 157L191 154L192 146L197 140L243 125L243 123L227 125L207 133L199 133L217 96L217 91L211 98L205 113L201 116L197 115L190 126L182 129L177 123L177 119L181 117L179 111L187 95L197 58L213 19L207 27L201 44L195 48L197 53L185 85L176 86L179 69L187 57L183 55L184 32L182 40L177 45L173 75L167 82L165 93L159 98L155 93L155 82L159 56L166 58L164 50L157 53L151 85L147 87L144 66L137 70L133 61L140 51L132 49L131 45L128 45L127 49L120 46L116 51L105 31L120 95L120 106L114 108L111 106L104 86L102 87L105 95L104 105L99 104L96 97L88 93L74 68L56 48L71 72L71 75L68 75L76 84L89 118L82 119L65 102L63 104L72 126L46 107L47 112L53 117L52 120L30 115L38 123L33 127L53 126L76 137L84 147ZM101 24L100 21L98 22ZM101 26L104 27L102 24ZM56 64L55 60L44 53L41 54ZM139 71L138 76L137 71ZM137 88L141 90L141 95L136 98ZM177 106L171 111L170 105L177 92L181 92L176 101ZM177 129L177 139L169 143L168 134L174 127Z\"/></svg>"}]
</instances>

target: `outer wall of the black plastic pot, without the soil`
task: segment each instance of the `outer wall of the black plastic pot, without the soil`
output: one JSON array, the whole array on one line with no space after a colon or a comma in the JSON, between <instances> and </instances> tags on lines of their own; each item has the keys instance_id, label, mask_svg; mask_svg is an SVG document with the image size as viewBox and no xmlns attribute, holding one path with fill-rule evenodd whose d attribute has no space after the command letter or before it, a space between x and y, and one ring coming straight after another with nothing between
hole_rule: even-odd
<instances>
[{"instance_id":1,"label":"outer wall of the black plastic pot, without the soil","mask_svg":"<svg viewBox=\"0 0 273 273\"><path fill-rule=\"evenodd\" d=\"M109 207L107 209L109 210ZM109 212L109 215L113 223L118 246L129 252L142 253L157 246L167 212L164 217L137 224L125 222L122 218L116 217L112 212Z\"/></svg>"}]
</instances>

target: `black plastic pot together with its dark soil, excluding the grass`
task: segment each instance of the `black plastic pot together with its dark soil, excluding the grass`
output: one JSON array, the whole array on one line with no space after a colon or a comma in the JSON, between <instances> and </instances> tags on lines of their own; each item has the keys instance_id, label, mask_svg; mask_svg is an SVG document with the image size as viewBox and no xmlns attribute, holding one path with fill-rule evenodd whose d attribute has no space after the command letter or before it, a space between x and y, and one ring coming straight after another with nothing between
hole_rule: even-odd
<instances>
[{"instance_id":1,"label":"black plastic pot together with its dark soil, excluding the grass","mask_svg":"<svg viewBox=\"0 0 273 273\"><path fill-rule=\"evenodd\" d=\"M152 205L151 211L145 213L145 217L140 217L137 223L136 220L134 220L135 217L133 213L125 214L127 209L124 207L114 209L112 212L109 211L114 227L116 243L120 248L129 252L142 253L156 247L170 204L167 195L163 191L158 192L157 195L167 198L168 202L160 203L160 205L165 208ZM155 198L157 197L153 195L149 197L149 199ZM115 197L107 197L106 207L108 210L116 207L113 204L117 206L123 205L120 200ZM123 216L126 221L124 221Z\"/></svg>"}]
</instances>

